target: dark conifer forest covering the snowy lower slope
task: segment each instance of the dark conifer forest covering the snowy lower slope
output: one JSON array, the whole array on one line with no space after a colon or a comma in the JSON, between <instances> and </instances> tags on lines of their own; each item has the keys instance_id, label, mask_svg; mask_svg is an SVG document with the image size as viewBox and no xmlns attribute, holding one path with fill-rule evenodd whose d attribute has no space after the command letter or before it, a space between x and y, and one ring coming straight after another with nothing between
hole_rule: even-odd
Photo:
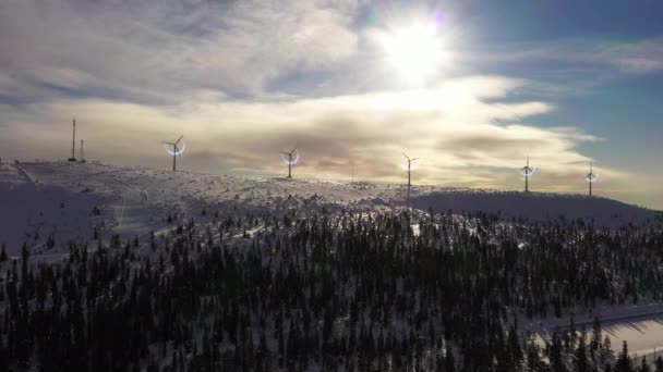
<instances>
[{"instance_id":1,"label":"dark conifer forest covering the snowy lower slope","mask_svg":"<svg viewBox=\"0 0 663 372\"><path fill-rule=\"evenodd\" d=\"M168 221L95 232L49 263L2 247L0 370L663 372L598 317L522 328L663 301L653 226L408 210Z\"/></svg>"}]
</instances>

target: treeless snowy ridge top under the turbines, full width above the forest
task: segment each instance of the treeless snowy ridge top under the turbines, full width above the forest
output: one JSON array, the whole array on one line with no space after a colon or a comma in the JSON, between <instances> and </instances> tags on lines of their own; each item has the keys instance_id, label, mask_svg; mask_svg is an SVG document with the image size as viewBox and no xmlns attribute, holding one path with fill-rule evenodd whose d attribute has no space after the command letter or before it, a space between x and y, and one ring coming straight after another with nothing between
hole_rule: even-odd
<instances>
[{"instance_id":1,"label":"treeless snowy ridge top under the turbines, full width above the forest","mask_svg":"<svg viewBox=\"0 0 663 372\"><path fill-rule=\"evenodd\" d=\"M0 165L0 243L17 255L23 243L52 236L87 240L92 232L123 236L166 228L169 215L200 222L217 213L284 213L296 210L381 210L405 204L402 185L318 179L241 178L191 172L118 168L100 163L33 162ZM415 186L422 210L499 212L530 220L587 219L619 226L654 221L654 212L584 196L499 193Z\"/></svg>"}]
</instances>

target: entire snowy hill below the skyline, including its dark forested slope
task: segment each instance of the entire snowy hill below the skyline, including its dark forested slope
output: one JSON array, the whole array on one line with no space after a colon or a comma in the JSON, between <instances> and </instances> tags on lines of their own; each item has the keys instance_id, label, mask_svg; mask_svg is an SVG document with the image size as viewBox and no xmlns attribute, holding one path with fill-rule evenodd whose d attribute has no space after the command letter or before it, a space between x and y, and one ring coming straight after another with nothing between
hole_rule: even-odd
<instances>
[{"instance_id":1,"label":"entire snowy hill below the skyline, including its dark forested slope","mask_svg":"<svg viewBox=\"0 0 663 372\"><path fill-rule=\"evenodd\" d=\"M653 211L584 196L419 186L415 210L406 212L405 196L402 185L388 184L99 163L0 165L0 244L10 256L0 255L8 273L0 309L9 309L0 317L14 324L0 327L0 338L39 343L19 338L4 355L16 365L29 358L48 365L53 355L69 360L51 352L65 343L63 350L97 350L72 352L82 361L103 350L117 365L184 361L197 370L201 361L238 365L234 356L260 355L267 365L294 370L292 351L309 350L323 356L303 358L316 371L327 370L327 359L354 363L343 349L359 349L358 360L408 356L406 364L423 360L426 370L433 360L439 365L443 340L445 358L475 360L487 345L505 348L498 339L507 335L514 349L550 360L553 352L538 348L558 331L567 337L566 324L613 337L595 351L611 363L622 340L637 354L662 347L660 227L576 223L659 223ZM507 218L468 215L478 211ZM23 319L57 319L29 327L17 315L24 309ZM604 323L594 326L594 317ZM80 335L75 345L71 330ZM122 342L106 342L113 337ZM260 349L242 349L252 339ZM142 356L126 359L136 349ZM0 359L2 352L0 343ZM427 352L433 358L419 357Z\"/></svg>"}]
</instances>

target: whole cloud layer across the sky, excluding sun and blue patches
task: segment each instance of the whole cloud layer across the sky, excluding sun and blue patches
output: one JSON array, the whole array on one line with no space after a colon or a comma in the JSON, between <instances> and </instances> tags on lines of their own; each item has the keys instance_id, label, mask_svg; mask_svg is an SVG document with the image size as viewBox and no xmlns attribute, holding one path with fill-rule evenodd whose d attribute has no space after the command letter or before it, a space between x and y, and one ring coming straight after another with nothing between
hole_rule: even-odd
<instances>
[{"instance_id":1,"label":"whole cloud layer across the sky, excluding sun and blue patches","mask_svg":"<svg viewBox=\"0 0 663 372\"><path fill-rule=\"evenodd\" d=\"M359 178L399 182L406 150L422 158L418 183L519 188L515 169L529 154L541 169L533 185L581 190L578 174L591 159L579 148L601 138L564 123L533 125L556 108L522 98L555 96L558 86L539 77L454 78L453 66L552 60L566 69L553 75L593 79L587 72L596 65L607 75L639 74L659 71L663 60L659 39L501 50L463 50L471 42L458 41L443 84L435 76L402 89L369 42L370 27L379 25L358 22L361 7L2 1L0 152L65 158L75 116L89 157L111 163L167 168L159 141L184 134L181 164L197 171L280 174L276 151L298 146L300 174L347 176L353 159ZM562 92L577 88L569 86ZM600 170L605 189L630 193L628 173Z\"/></svg>"}]
</instances>

